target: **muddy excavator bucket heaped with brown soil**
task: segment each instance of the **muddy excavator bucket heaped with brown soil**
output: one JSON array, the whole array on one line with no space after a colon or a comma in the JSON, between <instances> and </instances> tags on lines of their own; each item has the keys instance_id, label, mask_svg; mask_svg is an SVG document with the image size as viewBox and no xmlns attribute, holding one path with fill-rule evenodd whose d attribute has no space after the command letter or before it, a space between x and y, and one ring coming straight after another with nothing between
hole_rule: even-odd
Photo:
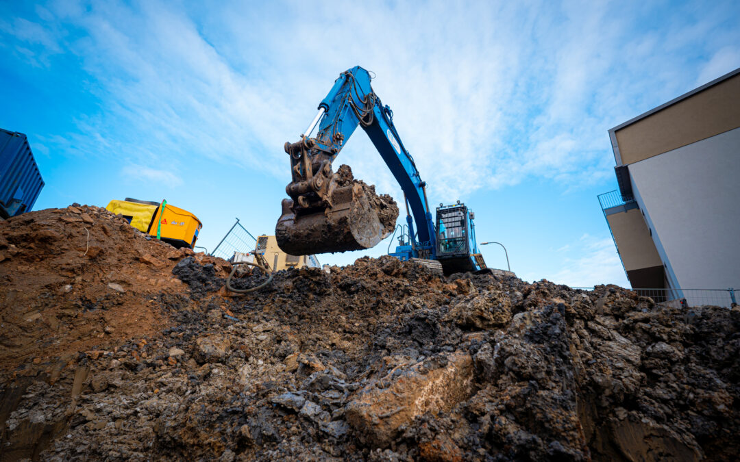
<instances>
[{"instance_id":1,"label":"muddy excavator bucket heaped with brown soil","mask_svg":"<svg viewBox=\"0 0 740 462\"><path fill-rule=\"evenodd\" d=\"M299 208L295 213L293 201L283 199L283 211L275 226L277 245L291 255L374 247L388 236L388 230L379 217L376 198L368 197L363 184L351 183L334 189L332 205L326 208ZM393 208L397 217L395 203ZM391 226L390 231L392 229Z\"/></svg>"}]
</instances>

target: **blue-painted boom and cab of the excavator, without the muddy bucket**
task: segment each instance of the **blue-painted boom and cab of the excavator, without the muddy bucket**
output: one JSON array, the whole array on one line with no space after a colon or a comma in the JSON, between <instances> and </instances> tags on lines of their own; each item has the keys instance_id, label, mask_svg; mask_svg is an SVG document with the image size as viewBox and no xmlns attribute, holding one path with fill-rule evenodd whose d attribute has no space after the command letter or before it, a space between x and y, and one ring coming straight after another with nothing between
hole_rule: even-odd
<instances>
[{"instance_id":1,"label":"blue-painted boom and cab of the excavator, without the muddy bucket","mask_svg":"<svg viewBox=\"0 0 740 462\"><path fill-rule=\"evenodd\" d=\"M398 227L402 230L399 245L389 254L401 260L437 259L445 272L485 268L475 242L473 215L464 204L458 201L455 205L440 205L435 226L426 197L426 183L403 145L393 123L391 108L383 106L370 81L369 72L359 66L342 72L318 106L324 113L317 135L312 139L314 147L330 153L330 159L334 160L357 126L362 126L404 194L406 225ZM444 229L440 228L440 223Z\"/></svg>"}]
</instances>

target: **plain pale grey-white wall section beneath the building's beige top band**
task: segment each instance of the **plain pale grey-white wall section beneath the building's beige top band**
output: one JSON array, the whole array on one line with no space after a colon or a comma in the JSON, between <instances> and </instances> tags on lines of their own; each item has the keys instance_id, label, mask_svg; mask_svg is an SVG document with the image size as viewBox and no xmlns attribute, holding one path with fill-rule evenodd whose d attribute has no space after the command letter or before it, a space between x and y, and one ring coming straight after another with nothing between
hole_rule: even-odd
<instances>
[{"instance_id":1,"label":"plain pale grey-white wall section beneath the building's beige top band","mask_svg":"<svg viewBox=\"0 0 740 462\"><path fill-rule=\"evenodd\" d=\"M639 160L629 171L678 285L740 287L740 128Z\"/></svg>"}]
</instances>

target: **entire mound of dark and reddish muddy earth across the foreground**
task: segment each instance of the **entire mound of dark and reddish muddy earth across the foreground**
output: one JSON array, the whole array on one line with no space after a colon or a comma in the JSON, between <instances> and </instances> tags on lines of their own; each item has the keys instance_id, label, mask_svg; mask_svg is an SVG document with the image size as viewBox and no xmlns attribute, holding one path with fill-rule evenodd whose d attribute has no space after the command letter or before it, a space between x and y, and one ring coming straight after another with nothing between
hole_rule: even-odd
<instances>
[{"instance_id":1,"label":"entire mound of dark and reddish muddy earth across the foreground","mask_svg":"<svg viewBox=\"0 0 740 462\"><path fill-rule=\"evenodd\" d=\"M740 308L230 269L101 208L0 222L0 459L737 460Z\"/></svg>"}]
</instances>

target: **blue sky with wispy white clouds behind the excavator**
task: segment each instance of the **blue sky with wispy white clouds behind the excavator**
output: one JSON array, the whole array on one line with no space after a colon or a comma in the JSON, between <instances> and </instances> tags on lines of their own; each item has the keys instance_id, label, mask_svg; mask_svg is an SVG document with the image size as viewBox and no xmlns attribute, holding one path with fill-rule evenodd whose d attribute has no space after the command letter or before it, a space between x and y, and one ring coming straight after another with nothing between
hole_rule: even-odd
<instances>
[{"instance_id":1,"label":"blue sky with wispy white clouds behind the excavator","mask_svg":"<svg viewBox=\"0 0 740 462\"><path fill-rule=\"evenodd\" d=\"M0 1L0 127L28 135L36 209L166 199L211 249L272 234L295 141L345 69L428 183L528 281L628 287L596 195L608 129L740 67L737 1ZM403 195L358 130L337 157ZM336 166L338 167L338 165ZM403 220L403 217L400 217ZM348 264L386 253L325 254ZM482 248L505 268L502 249Z\"/></svg>"}]
</instances>

